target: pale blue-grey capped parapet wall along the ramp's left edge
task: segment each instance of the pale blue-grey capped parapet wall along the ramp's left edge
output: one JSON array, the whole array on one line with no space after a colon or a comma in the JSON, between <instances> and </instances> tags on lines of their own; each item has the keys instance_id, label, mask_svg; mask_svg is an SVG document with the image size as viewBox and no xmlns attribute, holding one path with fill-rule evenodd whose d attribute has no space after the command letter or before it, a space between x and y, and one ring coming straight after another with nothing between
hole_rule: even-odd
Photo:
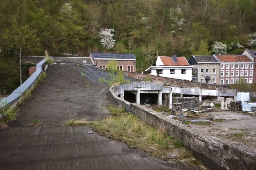
<instances>
[{"instance_id":1,"label":"pale blue-grey capped parapet wall along the ramp's left edge","mask_svg":"<svg viewBox=\"0 0 256 170\"><path fill-rule=\"evenodd\" d=\"M3 104L7 101L7 105L10 105L10 107L15 107L25 90L30 89L35 81L38 79L40 74L42 73L42 70L45 66L45 61L42 60L37 64L37 69L35 72L30 76L26 81L24 81L21 86L19 86L17 89L15 89L8 97L3 98L0 101L0 109L3 107Z\"/></svg>"}]
</instances>

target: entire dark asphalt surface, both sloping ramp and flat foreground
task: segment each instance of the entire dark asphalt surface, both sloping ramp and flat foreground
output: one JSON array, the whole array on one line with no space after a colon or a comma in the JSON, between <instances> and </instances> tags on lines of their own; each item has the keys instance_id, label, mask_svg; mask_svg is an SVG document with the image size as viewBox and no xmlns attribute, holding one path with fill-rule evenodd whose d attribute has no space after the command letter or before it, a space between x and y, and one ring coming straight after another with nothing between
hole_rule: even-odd
<instances>
[{"instance_id":1,"label":"entire dark asphalt surface, both sloping ramp and flat foreground","mask_svg":"<svg viewBox=\"0 0 256 170\"><path fill-rule=\"evenodd\" d=\"M97 121L110 114L109 87L98 82L105 71L65 63L50 66L47 73L33 97L20 106L17 120L0 130L1 170L198 169L155 159L96 132L87 134L89 127L48 126L69 118ZM33 119L47 126L26 126Z\"/></svg>"}]
</instances>

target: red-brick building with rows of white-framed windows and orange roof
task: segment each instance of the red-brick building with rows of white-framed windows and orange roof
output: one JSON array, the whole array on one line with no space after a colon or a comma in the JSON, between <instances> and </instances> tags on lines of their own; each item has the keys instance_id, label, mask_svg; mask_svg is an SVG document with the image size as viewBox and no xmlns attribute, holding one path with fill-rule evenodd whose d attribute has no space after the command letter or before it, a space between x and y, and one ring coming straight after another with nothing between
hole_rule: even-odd
<instances>
[{"instance_id":1,"label":"red-brick building with rows of white-framed windows and orange roof","mask_svg":"<svg viewBox=\"0 0 256 170\"><path fill-rule=\"evenodd\" d=\"M220 84L234 84L239 80L254 83L254 62L246 55L214 55L220 62Z\"/></svg>"}]
</instances>

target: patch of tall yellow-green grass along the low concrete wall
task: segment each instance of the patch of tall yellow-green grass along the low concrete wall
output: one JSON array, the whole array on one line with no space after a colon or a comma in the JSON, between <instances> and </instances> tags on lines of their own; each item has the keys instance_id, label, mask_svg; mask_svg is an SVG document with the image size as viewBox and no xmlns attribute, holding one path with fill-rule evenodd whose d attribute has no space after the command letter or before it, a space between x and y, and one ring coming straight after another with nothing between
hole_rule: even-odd
<instances>
[{"instance_id":1,"label":"patch of tall yellow-green grass along the low concrete wall","mask_svg":"<svg viewBox=\"0 0 256 170\"><path fill-rule=\"evenodd\" d=\"M132 113L126 113L123 107L109 105L109 110L110 117L102 121L90 122L89 126L107 137L123 141L130 147L138 148L154 157L169 160L166 154L175 148L180 148L183 153L175 159L176 161L188 159L188 162L193 163L196 160L191 152L184 148L184 143L165 133L163 127L155 128ZM202 165L202 162L195 161L198 162Z\"/></svg>"}]
</instances>

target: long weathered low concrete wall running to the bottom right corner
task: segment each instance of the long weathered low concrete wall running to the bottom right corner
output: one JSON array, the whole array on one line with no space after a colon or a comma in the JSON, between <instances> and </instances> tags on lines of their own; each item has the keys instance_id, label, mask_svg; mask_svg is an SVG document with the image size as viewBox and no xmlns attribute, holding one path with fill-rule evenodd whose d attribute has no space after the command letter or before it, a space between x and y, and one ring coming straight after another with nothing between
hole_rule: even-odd
<instances>
[{"instance_id":1,"label":"long weathered low concrete wall running to the bottom right corner","mask_svg":"<svg viewBox=\"0 0 256 170\"><path fill-rule=\"evenodd\" d=\"M113 101L125 107L126 111L138 115L142 120L155 127L164 127L168 134L182 140L187 147L197 153L194 155L210 169L256 169L256 149L237 142L227 143L216 137L203 135L196 129L142 105L122 100L115 94L113 87L109 89L109 94Z\"/></svg>"}]
</instances>

